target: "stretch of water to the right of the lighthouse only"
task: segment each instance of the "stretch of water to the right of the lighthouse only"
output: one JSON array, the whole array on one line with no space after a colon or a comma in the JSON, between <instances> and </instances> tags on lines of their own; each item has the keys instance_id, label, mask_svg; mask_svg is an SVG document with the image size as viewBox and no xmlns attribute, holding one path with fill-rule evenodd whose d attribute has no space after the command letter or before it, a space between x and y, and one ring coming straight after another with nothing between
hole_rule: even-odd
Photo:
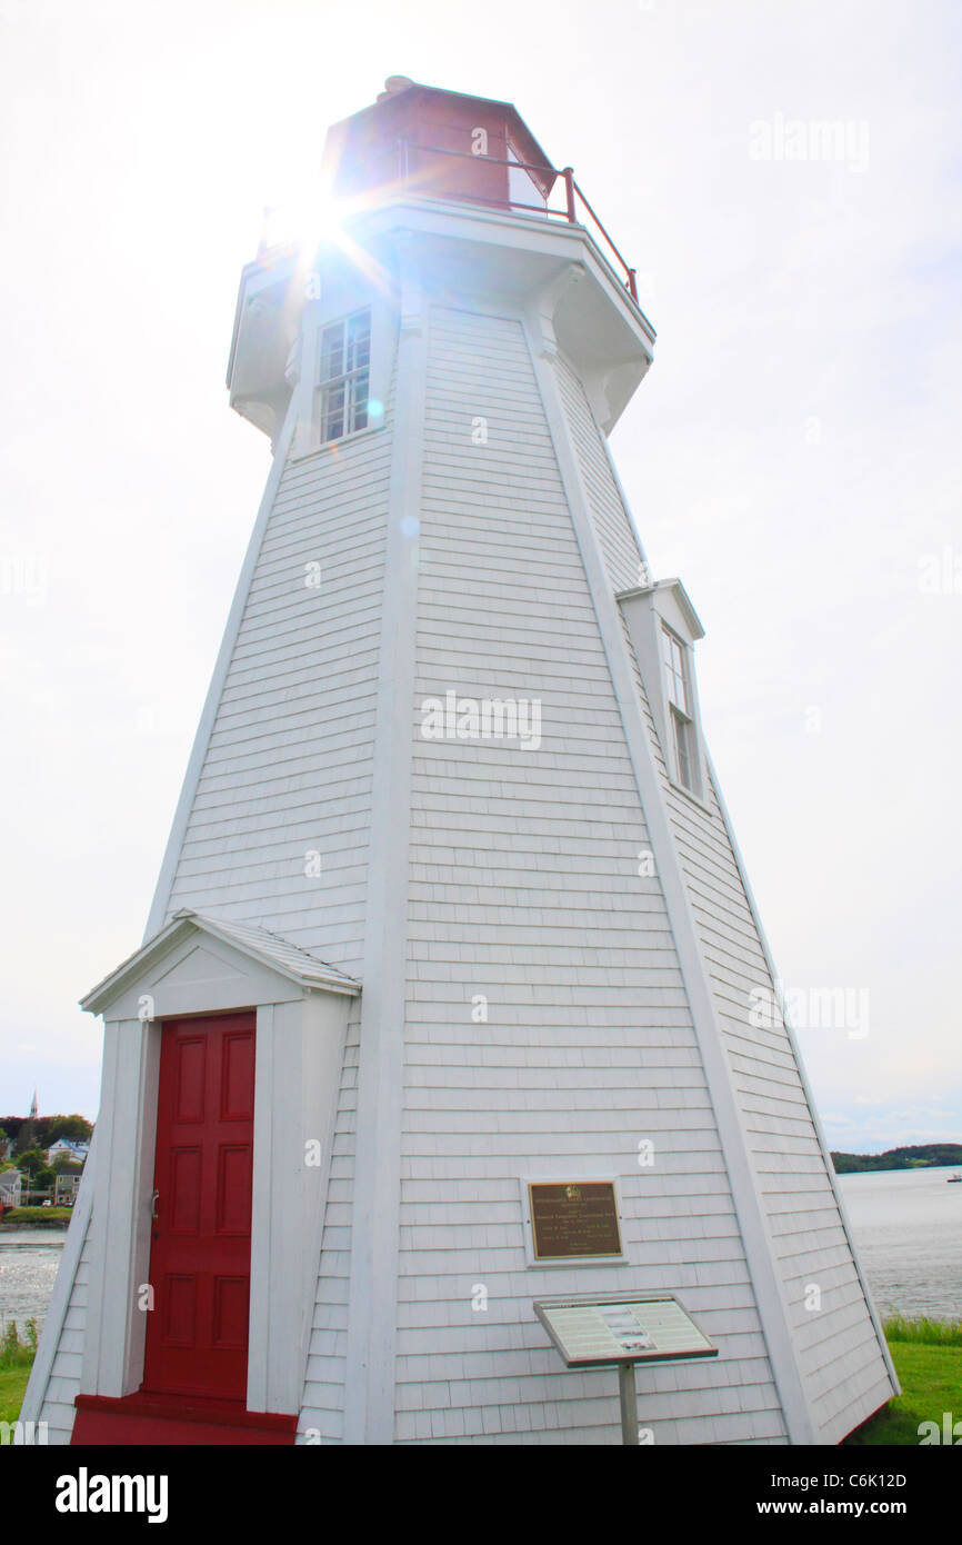
<instances>
[{"instance_id":1,"label":"stretch of water to the right of the lighthouse only","mask_svg":"<svg viewBox=\"0 0 962 1545\"><path fill-rule=\"evenodd\" d=\"M855 1248L880 1315L962 1319L962 1185L957 1170L838 1176Z\"/></svg>"}]
</instances>

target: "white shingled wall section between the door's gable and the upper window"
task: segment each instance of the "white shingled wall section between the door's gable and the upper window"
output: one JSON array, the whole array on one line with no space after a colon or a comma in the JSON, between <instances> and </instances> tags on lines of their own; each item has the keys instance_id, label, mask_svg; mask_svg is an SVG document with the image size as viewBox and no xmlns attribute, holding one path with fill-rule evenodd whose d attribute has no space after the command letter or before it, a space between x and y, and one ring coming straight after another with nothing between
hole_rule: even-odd
<instances>
[{"instance_id":1,"label":"white shingled wall section between the door's gable and the upper window","mask_svg":"<svg viewBox=\"0 0 962 1545\"><path fill-rule=\"evenodd\" d=\"M167 907L323 941L346 970L363 938L389 467L386 426L284 468Z\"/></svg>"}]
</instances>

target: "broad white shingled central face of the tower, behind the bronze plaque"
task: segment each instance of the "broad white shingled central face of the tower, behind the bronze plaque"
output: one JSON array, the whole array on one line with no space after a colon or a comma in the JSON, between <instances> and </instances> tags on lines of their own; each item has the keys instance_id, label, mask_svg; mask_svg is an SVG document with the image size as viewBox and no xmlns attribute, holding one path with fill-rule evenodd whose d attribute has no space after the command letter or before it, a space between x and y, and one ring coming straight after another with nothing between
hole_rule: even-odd
<instances>
[{"instance_id":1,"label":"broad white shingled central face of the tower, behind the bronze plaque","mask_svg":"<svg viewBox=\"0 0 962 1545\"><path fill-rule=\"evenodd\" d=\"M477 416L486 445L471 440ZM619 1177L632 1285L681 1290L726 1347L645 1377L641 1420L658 1441L784 1441L672 932L658 882L638 878L645 823L517 321L434 311L426 423L395 1437L613 1440L610 1372L568 1374L531 1299L616 1290L619 1268L528 1268L519 1228L519 1176L576 1173L590 1154ZM618 562L633 582L638 548L630 575L624 544ZM422 700L448 689L537 698L540 749L420 739ZM473 993L489 998L486 1024L471 1021ZM645 1137L652 1168L638 1163ZM471 1307L477 1282L486 1312Z\"/></svg>"}]
</instances>

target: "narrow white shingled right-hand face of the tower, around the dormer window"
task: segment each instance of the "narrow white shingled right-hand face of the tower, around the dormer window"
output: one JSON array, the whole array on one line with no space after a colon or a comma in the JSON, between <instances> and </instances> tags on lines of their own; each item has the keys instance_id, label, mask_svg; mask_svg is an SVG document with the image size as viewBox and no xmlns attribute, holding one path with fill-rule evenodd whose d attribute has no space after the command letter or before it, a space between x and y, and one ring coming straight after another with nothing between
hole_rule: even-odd
<instances>
[{"instance_id":1,"label":"narrow white shingled right-hand face of the tower, around the dormer window","mask_svg":"<svg viewBox=\"0 0 962 1545\"><path fill-rule=\"evenodd\" d=\"M588 450L598 445L599 436L584 391L564 360L559 377L582 476L585 482L590 476L596 490L591 499L604 504L610 527L618 527L616 511L621 511L621 542L615 544L608 535L602 545L627 552L633 538L630 519L610 467ZM613 584L624 582L616 578L611 562L608 567ZM638 669L636 684L698 922L812 1415L821 1440L838 1441L891 1392L882 1347L784 1024L766 1029L749 1021L752 992L774 993L774 984L715 788L707 789L707 808L703 808L672 783ZM804 1307L809 1284L821 1290L817 1313ZM845 1412L842 1426L840 1411Z\"/></svg>"}]
</instances>

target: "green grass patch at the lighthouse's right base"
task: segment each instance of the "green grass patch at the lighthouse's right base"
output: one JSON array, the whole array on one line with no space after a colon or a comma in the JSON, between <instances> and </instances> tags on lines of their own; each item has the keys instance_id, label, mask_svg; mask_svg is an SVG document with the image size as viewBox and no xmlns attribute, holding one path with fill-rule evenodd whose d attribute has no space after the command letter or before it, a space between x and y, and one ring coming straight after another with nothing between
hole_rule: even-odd
<instances>
[{"instance_id":1,"label":"green grass patch at the lighthouse's right base","mask_svg":"<svg viewBox=\"0 0 962 1545\"><path fill-rule=\"evenodd\" d=\"M916 1448L923 1421L942 1429L943 1412L962 1417L962 1321L891 1315L883 1329L902 1394L849 1434L845 1446Z\"/></svg>"}]
</instances>

